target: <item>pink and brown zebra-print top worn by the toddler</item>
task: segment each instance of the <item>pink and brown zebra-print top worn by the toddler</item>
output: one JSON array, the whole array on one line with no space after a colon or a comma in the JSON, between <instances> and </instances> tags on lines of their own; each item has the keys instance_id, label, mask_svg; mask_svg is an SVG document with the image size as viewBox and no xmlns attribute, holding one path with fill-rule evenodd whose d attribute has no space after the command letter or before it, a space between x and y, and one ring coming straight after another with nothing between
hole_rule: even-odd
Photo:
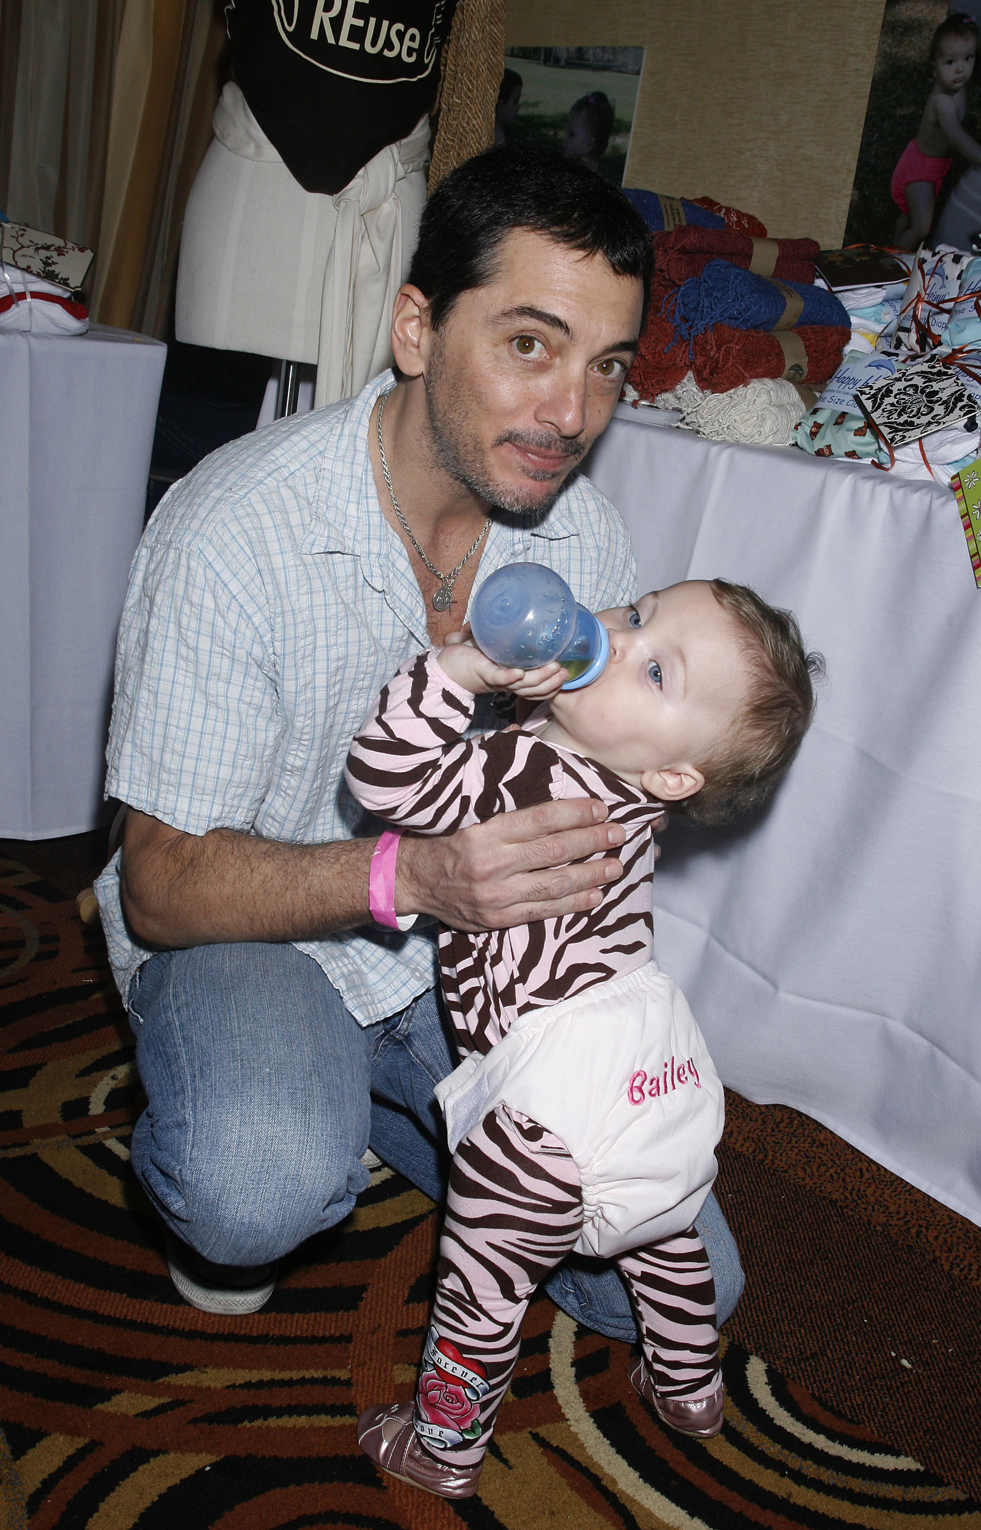
<instances>
[{"instance_id":1,"label":"pink and brown zebra-print top worn by the toddler","mask_svg":"<svg viewBox=\"0 0 981 1530\"><path fill-rule=\"evenodd\" d=\"M653 829L663 805L595 760L523 728L464 737L474 698L439 667L438 653L410 659L378 698L347 756L357 800L403 829L453 834L496 812L595 797L626 829L612 852L623 877L598 907L510 930L439 932L439 965L461 1057L488 1053L519 1014L618 978L652 959Z\"/></svg>"}]
</instances>

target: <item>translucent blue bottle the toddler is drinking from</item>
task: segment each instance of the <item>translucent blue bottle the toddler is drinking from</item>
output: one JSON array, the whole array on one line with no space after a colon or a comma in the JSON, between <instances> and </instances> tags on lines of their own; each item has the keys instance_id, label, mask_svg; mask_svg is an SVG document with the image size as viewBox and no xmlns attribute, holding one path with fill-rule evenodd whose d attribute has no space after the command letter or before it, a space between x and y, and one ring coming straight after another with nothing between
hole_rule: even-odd
<instances>
[{"instance_id":1,"label":"translucent blue bottle the toddler is drinking from","mask_svg":"<svg viewBox=\"0 0 981 1530\"><path fill-rule=\"evenodd\" d=\"M470 629L477 647L507 669L559 659L569 672L563 690L589 685L609 659L603 623L577 604L559 574L539 563L510 563L491 574L473 598Z\"/></svg>"}]
</instances>

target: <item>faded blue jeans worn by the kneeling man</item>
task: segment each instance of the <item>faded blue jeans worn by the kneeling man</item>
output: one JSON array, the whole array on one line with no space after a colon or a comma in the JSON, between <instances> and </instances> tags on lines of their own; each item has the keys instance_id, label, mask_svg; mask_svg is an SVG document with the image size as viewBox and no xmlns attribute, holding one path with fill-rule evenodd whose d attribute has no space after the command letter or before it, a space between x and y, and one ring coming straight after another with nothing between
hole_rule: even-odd
<instances>
[{"instance_id":1,"label":"faded blue jeans worn by the kneeling man","mask_svg":"<svg viewBox=\"0 0 981 1530\"><path fill-rule=\"evenodd\" d=\"M294 946L161 952L130 985L147 1109L133 1169L164 1222L216 1264L256 1265L341 1221L369 1183L366 1148L433 1201L448 1155L433 1085L455 1066L435 991L361 1027ZM718 1319L742 1293L713 1196L696 1227ZM612 1267L562 1265L552 1299L612 1339L635 1337Z\"/></svg>"}]
</instances>

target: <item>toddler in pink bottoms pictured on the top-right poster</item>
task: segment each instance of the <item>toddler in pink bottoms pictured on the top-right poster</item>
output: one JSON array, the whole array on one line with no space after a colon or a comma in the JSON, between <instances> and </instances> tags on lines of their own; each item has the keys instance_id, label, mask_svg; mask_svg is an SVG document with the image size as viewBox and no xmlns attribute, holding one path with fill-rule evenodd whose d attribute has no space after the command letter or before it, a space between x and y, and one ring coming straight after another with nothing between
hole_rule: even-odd
<instances>
[{"instance_id":1,"label":"toddler in pink bottoms pictured on the top-right poster","mask_svg":"<svg viewBox=\"0 0 981 1530\"><path fill-rule=\"evenodd\" d=\"M969 15L949 15L934 32L930 69L934 89L923 109L917 136L909 141L889 187L900 210L895 243L918 249L930 233L934 210L957 151L981 165L981 144L964 132L967 81L973 75L978 28Z\"/></svg>"}]
</instances>

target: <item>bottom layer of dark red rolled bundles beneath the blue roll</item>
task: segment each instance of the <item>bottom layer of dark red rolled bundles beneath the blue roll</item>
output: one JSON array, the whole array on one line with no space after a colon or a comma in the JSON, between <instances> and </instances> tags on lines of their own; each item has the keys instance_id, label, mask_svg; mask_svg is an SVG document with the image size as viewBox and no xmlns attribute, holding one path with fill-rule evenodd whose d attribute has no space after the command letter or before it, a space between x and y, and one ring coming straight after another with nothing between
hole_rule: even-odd
<instances>
[{"instance_id":1,"label":"bottom layer of dark red rolled bundles beneath the blue roll","mask_svg":"<svg viewBox=\"0 0 981 1530\"><path fill-rule=\"evenodd\" d=\"M826 382L851 340L851 329L805 324L767 334L713 324L689 343L675 338L673 324L652 312L627 382L652 402L681 382L686 372L710 393L727 393L753 378L788 378L791 382Z\"/></svg>"}]
</instances>

